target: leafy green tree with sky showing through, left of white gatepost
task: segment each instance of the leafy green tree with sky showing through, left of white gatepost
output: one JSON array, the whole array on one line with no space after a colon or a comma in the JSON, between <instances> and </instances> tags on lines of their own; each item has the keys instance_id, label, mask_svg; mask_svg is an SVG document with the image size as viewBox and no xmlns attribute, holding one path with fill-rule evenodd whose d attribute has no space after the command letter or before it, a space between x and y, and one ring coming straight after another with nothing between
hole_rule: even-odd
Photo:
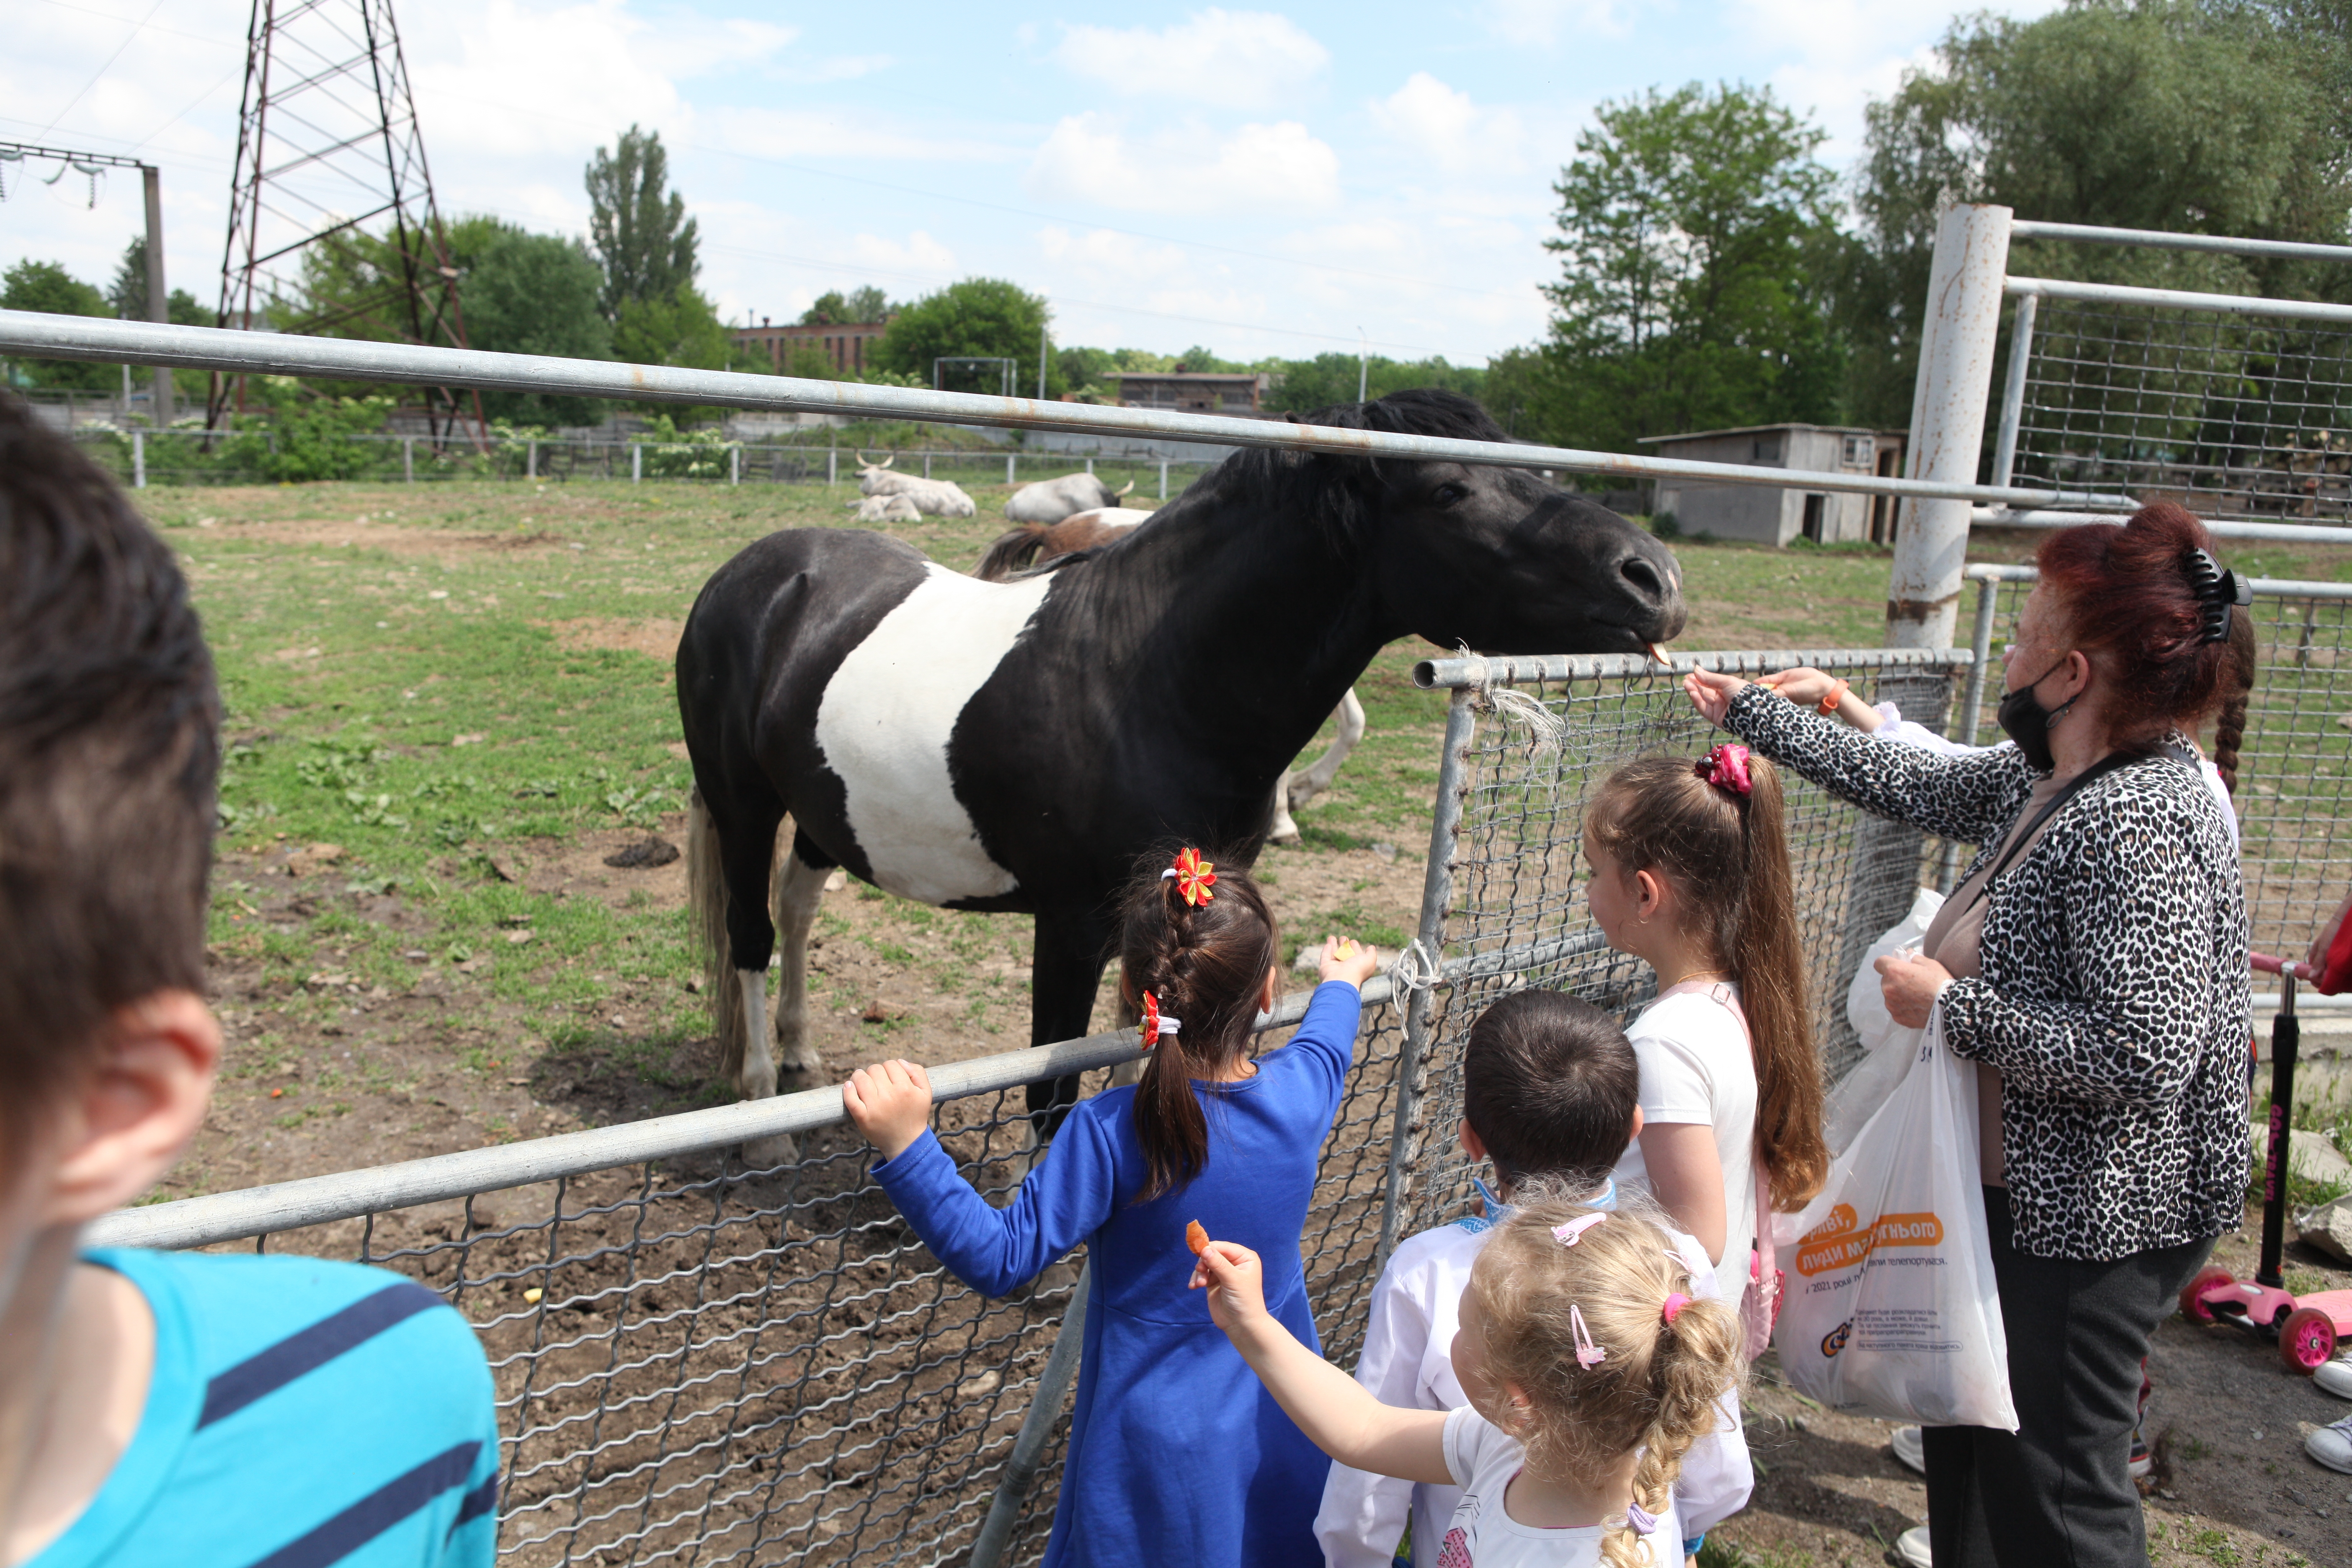
<instances>
[{"instance_id":1,"label":"leafy green tree with sky showing through, left of white gatepost","mask_svg":"<svg viewBox=\"0 0 2352 1568\"><path fill-rule=\"evenodd\" d=\"M1783 418L1835 421L1837 249L1823 132L1769 89L1604 103L1559 174L1550 346L1524 362L1536 430L1576 447ZM1823 393L1830 395L1823 395Z\"/></svg>"}]
</instances>

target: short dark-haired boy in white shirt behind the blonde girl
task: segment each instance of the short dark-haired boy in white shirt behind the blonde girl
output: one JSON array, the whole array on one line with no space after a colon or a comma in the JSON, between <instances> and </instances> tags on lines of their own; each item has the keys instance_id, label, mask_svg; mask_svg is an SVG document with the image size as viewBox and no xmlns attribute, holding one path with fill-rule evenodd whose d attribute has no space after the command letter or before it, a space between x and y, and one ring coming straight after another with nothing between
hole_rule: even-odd
<instances>
[{"instance_id":1,"label":"short dark-haired boy in white shirt behind the blonde girl","mask_svg":"<svg viewBox=\"0 0 2352 1568\"><path fill-rule=\"evenodd\" d=\"M1494 1164L1501 1194L1479 1187L1484 1213L1397 1244L1371 1293L1355 1380L1385 1406L1458 1410L1454 1335L1472 1265L1498 1220L1522 1201L1616 1208L1611 1168L1642 1131L1642 1067L1625 1030L1590 1001L1548 990L1503 997L1463 1044L1461 1147ZM1689 1234L1668 1227L1691 1295L1717 1298L1715 1267ZM1675 1483L1684 1552L1748 1505L1755 1476L1740 1436L1738 1399L1726 1396L1715 1432L1700 1436ZM1329 1568L1385 1568L1411 1521L1411 1561L1435 1563L1461 1488L1331 1465L1315 1537ZM1665 1559L1658 1559L1661 1563Z\"/></svg>"}]
</instances>

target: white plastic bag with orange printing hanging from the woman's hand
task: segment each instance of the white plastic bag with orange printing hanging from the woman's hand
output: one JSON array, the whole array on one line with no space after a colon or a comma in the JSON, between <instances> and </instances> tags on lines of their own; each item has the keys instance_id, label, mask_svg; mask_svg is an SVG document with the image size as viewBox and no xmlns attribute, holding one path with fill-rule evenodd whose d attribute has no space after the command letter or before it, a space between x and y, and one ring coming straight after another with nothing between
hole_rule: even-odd
<instances>
[{"instance_id":1,"label":"white plastic bag with orange printing hanging from the woman's hand","mask_svg":"<svg viewBox=\"0 0 2352 1568\"><path fill-rule=\"evenodd\" d=\"M2018 1429L1976 1161L1976 1067L1929 1018L1886 1103L1802 1213L1773 1215L1788 1269L1780 1368L1832 1410Z\"/></svg>"}]
</instances>

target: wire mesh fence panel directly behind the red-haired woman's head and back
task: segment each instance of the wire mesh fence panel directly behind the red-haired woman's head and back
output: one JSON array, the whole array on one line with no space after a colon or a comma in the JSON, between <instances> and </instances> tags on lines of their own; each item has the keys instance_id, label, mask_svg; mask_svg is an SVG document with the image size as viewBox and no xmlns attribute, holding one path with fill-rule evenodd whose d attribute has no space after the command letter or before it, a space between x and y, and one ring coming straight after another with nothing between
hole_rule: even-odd
<instances>
[{"instance_id":1,"label":"wire mesh fence panel directly behind the red-haired woman's head and back","mask_svg":"<svg viewBox=\"0 0 2352 1568\"><path fill-rule=\"evenodd\" d=\"M1992 654L1978 743L2002 741L1999 651L2016 635L2030 581L1994 585ZM2246 870L2253 947L2296 957L2352 889L2352 599L2260 590L2256 672L2246 701L2232 806ZM2197 736L2216 752L2216 724Z\"/></svg>"}]
</instances>

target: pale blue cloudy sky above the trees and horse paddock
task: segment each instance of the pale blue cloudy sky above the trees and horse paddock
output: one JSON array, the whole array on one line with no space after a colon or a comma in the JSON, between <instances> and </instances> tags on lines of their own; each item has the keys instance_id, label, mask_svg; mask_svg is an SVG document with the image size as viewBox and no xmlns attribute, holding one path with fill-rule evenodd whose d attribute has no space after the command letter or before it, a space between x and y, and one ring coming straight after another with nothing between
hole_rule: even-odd
<instances>
[{"instance_id":1,"label":"pale blue cloudy sky above the trees and horse paddock","mask_svg":"<svg viewBox=\"0 0 2352 1568\"><path fill-rule=\"evenodd\" d=\"M2051 9L2046 0L1994 7ZM172 284L212 303L247 0L5 0L0 139L165 169ZM1592 108L1773 87L1860 150L1863 106L1950 9L1891 0L1428 5L647 5L397 0L445 214L583 233L588 155L637 120L701 221L703 287L786 320L988 273L1063 343L1482 362L1543 331L1550 181ZM35 167L35 181L52 167ZM136 176L9 179L0 266L103 282Z\"/></svg>"}]
</instances>

